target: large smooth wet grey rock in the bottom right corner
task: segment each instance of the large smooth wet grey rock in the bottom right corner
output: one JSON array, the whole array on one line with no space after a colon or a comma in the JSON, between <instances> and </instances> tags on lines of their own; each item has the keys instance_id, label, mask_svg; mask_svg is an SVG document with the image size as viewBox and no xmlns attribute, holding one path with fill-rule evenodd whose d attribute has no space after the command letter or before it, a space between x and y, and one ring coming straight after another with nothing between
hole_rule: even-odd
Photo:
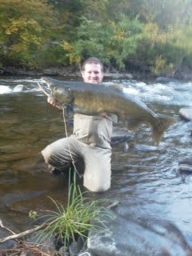
<instances>
[{"instance_id":1,"label":"large smooth wet grey rock in the bottom right corner","mask_svg":"<svg viewBox=\"0 0 192 256\"><path fill-rule=\"evenodd\" d=\"M107 219L106 230L91 230L87 247L98 256L186 256L190 246L174 224L159 219L133 220L117 215Z\"/></svg>"}]
</instances>

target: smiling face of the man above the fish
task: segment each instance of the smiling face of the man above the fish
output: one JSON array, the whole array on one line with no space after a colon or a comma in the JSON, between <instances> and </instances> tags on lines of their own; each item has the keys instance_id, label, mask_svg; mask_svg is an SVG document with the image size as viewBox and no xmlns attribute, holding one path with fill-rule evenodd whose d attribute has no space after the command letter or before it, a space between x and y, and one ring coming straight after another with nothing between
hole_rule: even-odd
<instances>
[{"instance_id":1,"label":"smiling face of the man above the fish","mask_svg":"<svg viewBox=\"0 0 192 256\"><path fill-rule=\"evenodd\" d=\"M85 70L82 71L82 78L84 82L102 83L103 73L100 64L87 63Z\"/></svg>"}]
</instances>

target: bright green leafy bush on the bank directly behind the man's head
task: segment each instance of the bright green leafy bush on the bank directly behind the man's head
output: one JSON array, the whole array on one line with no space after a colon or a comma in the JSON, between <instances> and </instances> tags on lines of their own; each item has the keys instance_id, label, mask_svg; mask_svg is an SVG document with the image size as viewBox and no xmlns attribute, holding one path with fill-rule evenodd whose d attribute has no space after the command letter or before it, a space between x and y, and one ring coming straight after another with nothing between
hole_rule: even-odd
<instances>
[{"instance_id":1,"label":"bright green leafy bush on the bank directly behind the man's head","mask_svg":"<svg viewBox=\"0 0 192 256\"><path fill-rule=\"evenodd\" d=\"M138 19L130 21L121 15L118 22L108 21L106 26L82 18L78 27L77 40L71 44L70 58L97 56L103 62L114 62L118 69L125 68L124 61L137 50L138 41L142 38L142 24Z\"/></svg>"}]
</instances>

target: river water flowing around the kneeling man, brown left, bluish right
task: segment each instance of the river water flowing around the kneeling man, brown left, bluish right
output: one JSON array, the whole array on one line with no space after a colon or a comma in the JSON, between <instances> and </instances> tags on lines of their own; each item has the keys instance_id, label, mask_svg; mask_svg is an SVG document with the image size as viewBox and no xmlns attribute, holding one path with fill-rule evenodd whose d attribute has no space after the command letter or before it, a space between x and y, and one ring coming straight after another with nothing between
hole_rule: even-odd
<instances>
[{"instance_id":1,"label":"river water flowing around the kneeling man, brown left, bluish right","mask_svg":"<svg viewBox=\"0 0 192 256\"><path fill-rule=\"evenodd\" d=\"M0 79L0 218L16 233L30 228L30 210L50 209L49 197L64 204L67 198L68 181L47 173L39 154L66 136L62 111L47 104L37 81ZM125 216L173 222L192 246L192 174L178 170L178 162L192 155L192 124L178 116L182 106L192 106L192 82L114 82L121 83L125 93L152 104L155 113L169 114L177 122L158 146L146 126L130 139L128 148L124 142L114 145L111 189L89 197L118 200L119 214Z\"/></svg>"}]
</instances>

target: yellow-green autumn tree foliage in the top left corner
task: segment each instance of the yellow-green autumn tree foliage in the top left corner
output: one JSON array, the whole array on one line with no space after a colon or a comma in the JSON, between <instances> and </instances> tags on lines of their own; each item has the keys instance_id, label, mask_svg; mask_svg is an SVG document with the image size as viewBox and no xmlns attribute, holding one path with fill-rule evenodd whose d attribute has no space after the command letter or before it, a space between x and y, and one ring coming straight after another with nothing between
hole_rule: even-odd
<instances>
[{"instance_id":1,"label":"yellow-green autumn tree foliage in the top left corner","mask_svg":"<svg viewBox=\"0 0 192 256\"><path fill-rule=\"evenodd\" d=\"M0 57L4 64L35 66L35 54L42 47L42 34L53 19L45 1L1 0Z\"/></svg>"}]
</instances>

